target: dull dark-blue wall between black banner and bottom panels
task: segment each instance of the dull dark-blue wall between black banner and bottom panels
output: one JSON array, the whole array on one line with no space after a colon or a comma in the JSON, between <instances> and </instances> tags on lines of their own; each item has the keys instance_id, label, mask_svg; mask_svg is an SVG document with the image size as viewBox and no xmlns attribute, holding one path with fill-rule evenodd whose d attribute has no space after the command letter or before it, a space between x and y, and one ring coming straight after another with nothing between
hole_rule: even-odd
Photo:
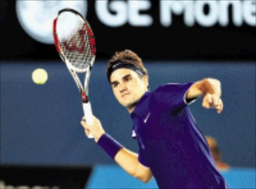
<instances>
[{"instance_id":1,"label":"dull dark-blue wall between black banner and bottom panels","mask_svg":"<svg viewBox=\"0 0 256 189\"><path fill-rule=\"evenodd\" d=\"M255 167L254 62L144 62L150 88L167 82L214 77L222 83L223 112L190 105L205 135L215 137L223 161L233 167ZM36 68L48 72L44 85L31 81ZM131 120L112 95L105 62L96 61L89 97L104 129L125 147L136 151ZM81 76L83 77L83 76ZM80 94L64 63L4 62L0 64L0 161L3 164L91 165L112 160L83 133Z\"/></svg>"}]
</instances>

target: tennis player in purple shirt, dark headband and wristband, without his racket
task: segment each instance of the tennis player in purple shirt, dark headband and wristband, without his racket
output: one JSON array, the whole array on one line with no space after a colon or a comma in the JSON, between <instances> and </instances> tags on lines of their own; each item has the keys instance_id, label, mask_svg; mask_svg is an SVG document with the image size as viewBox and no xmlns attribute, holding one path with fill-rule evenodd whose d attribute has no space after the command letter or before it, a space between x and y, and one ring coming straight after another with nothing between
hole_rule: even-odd
<instances>
[{"instance_id":1,"label":"tennis player in purple shirt, dark headband and wristband, without his racket","mask_svg":"<svg viewBox=\"0 0 256 189\"><path fill-rule=\"evenodd\" d=\"M223 104L218 80L165 84L148 91L147 70L130 50L113 55L106 74L114 96L130 113L138 154L105 133L95 117L92 126L82 119L86 135L91 133L95 142L124 171L142 182L154 177L159 188L225 188L207 142L187 107L204 95L202 106L214 107L220 113Z\"/></svg>"}]
</instances>

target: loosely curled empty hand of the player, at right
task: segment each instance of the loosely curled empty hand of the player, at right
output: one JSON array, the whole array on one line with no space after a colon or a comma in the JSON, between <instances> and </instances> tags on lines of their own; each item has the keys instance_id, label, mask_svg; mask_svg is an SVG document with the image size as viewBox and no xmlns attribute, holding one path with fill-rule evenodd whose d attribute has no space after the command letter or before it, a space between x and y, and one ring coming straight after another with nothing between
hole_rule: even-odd
<instances>
[{"instance_id":1,"label":"loosely curled empty hand of the player, at right","mask_svg":"<svg viewBox=\"0 0 256 189\"><path fill-rule=\"evenodd\" d=\"M220 99L219 95L206 94L202 100L202 107L207 108L207 109L208 108L216 108L218 114L220 114L223 110L223 103L222 103L222 100Z\"/></svg>"}]
</instances>

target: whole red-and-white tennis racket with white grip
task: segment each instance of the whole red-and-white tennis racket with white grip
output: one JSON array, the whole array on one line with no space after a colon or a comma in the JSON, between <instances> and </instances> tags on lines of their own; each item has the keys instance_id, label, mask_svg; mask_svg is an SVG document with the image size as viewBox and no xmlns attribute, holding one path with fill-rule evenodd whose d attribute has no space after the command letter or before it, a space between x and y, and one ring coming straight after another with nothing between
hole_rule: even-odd
<instances>
[{"instance_id":1,"label":"whole red-and-white tennis racket with white grip","mask_svg":"<svg viewBox=\"0 0 256 189\"><path fill-rule=\"evenodd\" d=\"M53 20L53 38L60 58L65 62L82 97L86 123L92 125L92 111L88 99L90 70L95 60L95 39L88 21L76 10L63 8ZM84 87L77 73L85 73ZM88 138L93 138L91 134Z\"/></svg>"}]
</instances>

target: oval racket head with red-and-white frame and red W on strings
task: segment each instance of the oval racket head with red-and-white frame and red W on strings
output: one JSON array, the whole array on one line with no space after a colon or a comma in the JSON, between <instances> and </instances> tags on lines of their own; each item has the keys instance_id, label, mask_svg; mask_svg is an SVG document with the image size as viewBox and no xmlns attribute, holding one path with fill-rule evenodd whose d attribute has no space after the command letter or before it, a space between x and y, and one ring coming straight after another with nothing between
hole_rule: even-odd
<instances>
[{"instance_id":1,"label":"oval racket head with red-and-white frame and red W on strings","mask_svg":"<svg viewBox=\"0 0 256 189\"><path fill-rule=\"evenodd\" d=\"M88 21L76 10L63 8L53 20L56 49L66 66L76 72L91 67L96 54L95 38Z\"/></svg>"}]
</instances>

